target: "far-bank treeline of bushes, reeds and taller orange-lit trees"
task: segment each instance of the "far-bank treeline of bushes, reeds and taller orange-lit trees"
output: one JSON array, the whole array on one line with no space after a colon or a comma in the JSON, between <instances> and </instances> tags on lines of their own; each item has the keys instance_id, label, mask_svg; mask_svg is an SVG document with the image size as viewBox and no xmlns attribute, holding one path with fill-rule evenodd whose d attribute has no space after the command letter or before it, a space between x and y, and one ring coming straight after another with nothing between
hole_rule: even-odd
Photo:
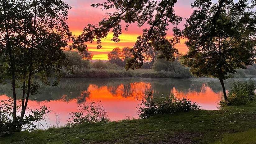
<instances>
[{"instance_id":1,"label":"far-bank treeline of bushes, reeds and taller orange-lit trees","mask_svg":"<svg viewBox=\"0 0 256 144\"><path fill-rule=\"evenodd\" d=\"M89 57L81 55L77 51L65 51L68 66L63 66L62 77L146 77L146 78L189 78L192 75L189 68L181 65L179 57L174 61L156 59L155 52L147 54L146 61L141 69L125 70L126 60L132 57L129 47L114 48L108 54L108 61L89 61Z\"/></svg>"}]
</instances>

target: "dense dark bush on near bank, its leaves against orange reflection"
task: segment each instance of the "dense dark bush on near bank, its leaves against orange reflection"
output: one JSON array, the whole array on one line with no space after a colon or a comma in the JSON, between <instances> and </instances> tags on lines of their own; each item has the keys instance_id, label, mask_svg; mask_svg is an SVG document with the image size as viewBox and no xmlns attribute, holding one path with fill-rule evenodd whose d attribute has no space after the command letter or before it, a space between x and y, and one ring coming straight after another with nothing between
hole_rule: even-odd
<instances>
[{"instance_id":1,"label":"dense dark bush on near bank, its leaves against orange reflection","mask_svg":"<svg viewBox=\"0 0 256 144\"><path fill-rule=\"evenodd\" d=\"M153 97L152 93L147 95L146 100L142 100L140 107L137 108L139 117L146 119L157 114L174 114L177 112L188 112L199 110L197 103L191 103L186 98L178 99L172 94L170 97Z\"/></svg>"}]
</instances>

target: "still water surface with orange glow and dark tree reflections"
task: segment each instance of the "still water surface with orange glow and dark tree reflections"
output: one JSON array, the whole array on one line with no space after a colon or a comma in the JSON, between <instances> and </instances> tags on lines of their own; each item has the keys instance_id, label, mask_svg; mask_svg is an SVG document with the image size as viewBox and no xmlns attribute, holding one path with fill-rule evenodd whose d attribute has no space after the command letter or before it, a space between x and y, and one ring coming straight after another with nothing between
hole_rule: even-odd
<instances>
[{"instance_id":1,"label":"still water surface with orange glow and dark tree reflections","mask_svg":"<svg viewBox=\"0 0 256 144\"><path fill-rule=\"evenodd\" d=\"M232 81L225 81L227 91ZM40 92L30 97L28 106L30 109L47 106L52 110L47 122L54 126L64 126L69 112L77 111L79 104L90 101L101 101L110 120L121 120L138 117L136 107L148 92L152 92L154 96L174 93L176 97L186 97L197 102L205 110L216 110L217 103L222 98L220 82L210 78L65 78L61 79L57 87L41 86ZM21 96L21 92L17 95ZM11 96L10 85L0 85L0 100Z\"/></svg>"}]
</instances>

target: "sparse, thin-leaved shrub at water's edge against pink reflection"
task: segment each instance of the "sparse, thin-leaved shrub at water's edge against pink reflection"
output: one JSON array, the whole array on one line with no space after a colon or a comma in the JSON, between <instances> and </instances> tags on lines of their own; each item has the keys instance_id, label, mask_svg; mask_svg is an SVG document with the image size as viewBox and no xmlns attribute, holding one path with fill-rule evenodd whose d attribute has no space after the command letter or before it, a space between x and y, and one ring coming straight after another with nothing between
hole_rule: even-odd
<instances>
[{"instance_id":1,"label":"sparse, thin-leaved shrub at water's edge against pink reflection","mask_svg":"<svg viewBox=\"0 0 256 144\"><path fill-rule=\"evenodd\" d=\"M78 106L78 112L70 112L68 115L71 117L67 121L67 125L74 126L83 123L106 123L109 121L107 111L99 103L95 102L83 103Z\"/></svg>"}]
</instances>

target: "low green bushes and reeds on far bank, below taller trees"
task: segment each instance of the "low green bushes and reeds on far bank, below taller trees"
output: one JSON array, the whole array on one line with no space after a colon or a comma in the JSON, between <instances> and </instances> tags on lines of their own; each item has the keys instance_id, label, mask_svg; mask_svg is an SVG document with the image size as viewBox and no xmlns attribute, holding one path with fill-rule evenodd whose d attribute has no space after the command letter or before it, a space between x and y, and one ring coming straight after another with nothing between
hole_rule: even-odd
<instances>
[{"instance_id":1,"label":"low green bushes and reeds on far bank, below taller trees","mask_svg":"<svg viewBox=\"0 0 256 144\"><path fill-rule=\"evenodd\" d=\"M114 50L113 50L114 51ZM183 59L177 56L174 61L157 59L144 63L141 69L125 70L124 60L115 58L111 61L96 60L91 62L84 59L77 51L65 51L69 61L68 67L62 67L61 76L64 78L119 78L119 77L144 77L144 78L190 78L190 68L181 64ZM114 53L114 52L112 52ZM116 52L117 53L117 52ZM112 58L114 54L112 54ZM121 54L120 54L121 55ZM153 56L153 55L152 55ZM114 59L114 58L113 58ZM119 61L118 61L119 60ZM115 62L117 62L117 65ZM249 65L245 70L238 70L236 74L229 74L233 78L256 77L256 64Z\"/></svg>"}]
</instances>

